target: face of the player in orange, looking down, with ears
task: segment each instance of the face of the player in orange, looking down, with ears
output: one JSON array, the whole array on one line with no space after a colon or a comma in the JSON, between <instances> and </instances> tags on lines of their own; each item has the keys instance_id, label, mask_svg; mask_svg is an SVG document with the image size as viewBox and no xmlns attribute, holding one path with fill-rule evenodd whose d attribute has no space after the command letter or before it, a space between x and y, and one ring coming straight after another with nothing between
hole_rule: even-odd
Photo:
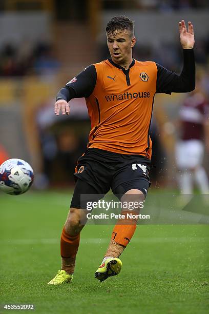
<instances>
[{"instance_id":1,"label":"face of the player in orange, looking down, with ears","mask_svg":"<svg viewBox=\"0 0 209 314\"><path fill-rule=\"evenodd\" d=\"M132 48L136 38L131 36L129 30L117 30L107 34L108 48L113 62L125 65L132 62Z\"/></svg>"}]
</instances>

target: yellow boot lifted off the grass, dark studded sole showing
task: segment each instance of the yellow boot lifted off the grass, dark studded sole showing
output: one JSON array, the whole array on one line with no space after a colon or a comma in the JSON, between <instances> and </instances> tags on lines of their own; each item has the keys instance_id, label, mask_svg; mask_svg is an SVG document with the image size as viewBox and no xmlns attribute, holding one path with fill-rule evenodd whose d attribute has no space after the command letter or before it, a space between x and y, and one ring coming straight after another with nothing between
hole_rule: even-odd
<instances>
[{"instance_id":1,"label":"yellow boot lifted off the grass, dark studded sole showing","mask_svg":"<svg viewBox=\"0 0 209 314\"><path fill-rule=\"evenodd\" d=\"M109 277L116 276L121 268L122 262L119 259L108 258L99 266L94 277L102 282Z\"/></svg>"}]
</instances>

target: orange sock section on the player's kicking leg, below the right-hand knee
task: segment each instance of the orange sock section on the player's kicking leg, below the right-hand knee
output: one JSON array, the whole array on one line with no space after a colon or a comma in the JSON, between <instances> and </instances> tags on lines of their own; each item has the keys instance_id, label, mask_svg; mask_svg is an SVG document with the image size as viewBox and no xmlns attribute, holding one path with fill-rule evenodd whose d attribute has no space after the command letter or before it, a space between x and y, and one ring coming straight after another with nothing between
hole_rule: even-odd
<instances>
[{"instance_id":1,"label":"orange sock section on the player's kicking leg, below the right-hand knee","mask_svg":"<svg viewBox=\"0 0 209 314\"><path fill-rule=\"evenodd\" d=\"M117 225L115 225L112 233L112 240L117 244L120 244L124 247L129 244L133 234L136 230L137 219L129 218L128 214L137 215L135 211L122 211L122 215L125 215L126 218L119 219Z\"/></svg>"}]
</instances>

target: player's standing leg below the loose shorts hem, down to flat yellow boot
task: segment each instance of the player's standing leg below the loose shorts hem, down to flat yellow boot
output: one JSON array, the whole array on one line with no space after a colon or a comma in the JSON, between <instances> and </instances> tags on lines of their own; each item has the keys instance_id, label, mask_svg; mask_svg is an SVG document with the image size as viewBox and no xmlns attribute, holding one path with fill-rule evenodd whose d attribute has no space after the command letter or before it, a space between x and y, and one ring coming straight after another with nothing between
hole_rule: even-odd
<instances>
[{"instance_id":1,"label":"player's standing leg below the loose shorts hem, down to flat yellow boot","mask_svg":"<svg viewBox=\"0 0 209 314\"><path fill-rule=\"evenodd\" d=\"M78 179L71 202L71 208L61 232L61 270L48 282L49 285L59 285L72 281L80 240L80 231L87 221L86 210L80 209L80 197L82 194L97 194L97 191L85 181Z\"/></svg>"}]
</instances>

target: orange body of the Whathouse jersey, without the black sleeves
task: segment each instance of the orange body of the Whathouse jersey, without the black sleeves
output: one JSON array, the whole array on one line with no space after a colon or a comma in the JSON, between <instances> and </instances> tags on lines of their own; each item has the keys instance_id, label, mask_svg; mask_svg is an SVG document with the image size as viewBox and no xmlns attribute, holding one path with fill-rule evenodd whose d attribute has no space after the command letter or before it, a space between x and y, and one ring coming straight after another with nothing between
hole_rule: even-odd
<instances>
[{"instance_id":1,"label":"orange body of the Whathouse jersey, without the black sleeves","mask_svg":"<svg viewBox=\"0 0 209 314\"><path fill-rule=\"evenodd\" d=\"M151 159L149 128L156 91L154 62L138 62L126 74L108 60L94 64L97 82L86 99L91 119L89 145L122 154Z\"/></svg>"}]
</instances>

